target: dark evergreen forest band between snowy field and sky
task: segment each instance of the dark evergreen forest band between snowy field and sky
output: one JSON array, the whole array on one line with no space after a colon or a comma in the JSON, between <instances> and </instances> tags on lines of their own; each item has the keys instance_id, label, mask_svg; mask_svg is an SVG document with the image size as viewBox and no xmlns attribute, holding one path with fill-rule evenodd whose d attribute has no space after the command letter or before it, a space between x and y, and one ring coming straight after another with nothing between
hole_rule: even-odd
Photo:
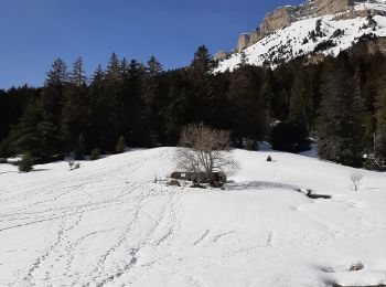
<instances>
[{"instance_id":1,"label":"dark evergreen forest band between snowy field and sky","mask_svg":"<svg viewBox=\"0 0 386 287\"><path fill-rule=\"evenodd\" d=\"M95 148L175 146L182 127L203 123L230 131L235 147L267 140L299 152L314 137L322 159L384 170L386 59L355 51L275 70L243 61L225 73L213 73L205 46L172 71L153 56L142 64L112 53L89 78L81 57L71 68L57 59L42 87L0 91L0 157L45 162Z\"/></svg>"}]
</instances>

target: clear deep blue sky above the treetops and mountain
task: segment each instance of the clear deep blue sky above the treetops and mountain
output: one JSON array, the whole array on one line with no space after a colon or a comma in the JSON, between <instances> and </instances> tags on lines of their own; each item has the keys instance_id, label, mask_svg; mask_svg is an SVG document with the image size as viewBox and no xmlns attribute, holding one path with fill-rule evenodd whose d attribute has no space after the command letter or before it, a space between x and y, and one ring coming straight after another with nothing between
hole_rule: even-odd
<instances>
[{"instance_id":1,"label":"clear deep blue sky above the treetops and mountain","mask_svg":"<svg viewBox=\"0 0 386 287\"><path fill-rule=\"evenodd\" d=\"M111 52L164 68L190 63L199 45L230 51L265 13L301 0L1 0L0 88L39 86L57 56L87 74Z\"/></svg>"}]
</instances>

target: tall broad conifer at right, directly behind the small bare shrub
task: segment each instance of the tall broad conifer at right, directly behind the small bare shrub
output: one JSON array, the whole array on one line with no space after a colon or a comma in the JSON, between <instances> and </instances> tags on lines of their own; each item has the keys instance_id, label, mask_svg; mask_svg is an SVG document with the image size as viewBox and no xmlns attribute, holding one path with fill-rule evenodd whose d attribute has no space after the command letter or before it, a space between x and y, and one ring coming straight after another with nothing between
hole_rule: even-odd
<instances>
[{"instance_id":1,"label":"tall broad conifer at right, directly behind the small bare shrub","mask_svg":"<svg viewBox=\"0 0 386 287\"><path fill-rule=\"evenodd\" d=\"M319 153L323 159L361 167L363 142L357 105L353 105L353 75L344 55L339 60L329 60L323 71Z\"/></svg>"}]
</instances>

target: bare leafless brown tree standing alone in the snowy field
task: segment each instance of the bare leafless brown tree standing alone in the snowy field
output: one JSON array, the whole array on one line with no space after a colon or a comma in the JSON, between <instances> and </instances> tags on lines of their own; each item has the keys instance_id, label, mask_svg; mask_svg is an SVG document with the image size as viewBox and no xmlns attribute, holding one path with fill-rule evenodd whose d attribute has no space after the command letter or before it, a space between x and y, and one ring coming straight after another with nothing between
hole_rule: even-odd
<instances>
[{"instance_id":1,"label":"bare leafless brown tree standing alone in the snowy field","mask_svg":"<svg viewBox=\"0 0 386 287\"><path fill-rule=\"evenodd\" d=\"M229 132L204 126L190 125L181 132L180 148L176 152L179 168L196 174L202 182L203 177L214 185L214 173L232 174L237 169L229 145Z\"/></svg>"}]
</instances>

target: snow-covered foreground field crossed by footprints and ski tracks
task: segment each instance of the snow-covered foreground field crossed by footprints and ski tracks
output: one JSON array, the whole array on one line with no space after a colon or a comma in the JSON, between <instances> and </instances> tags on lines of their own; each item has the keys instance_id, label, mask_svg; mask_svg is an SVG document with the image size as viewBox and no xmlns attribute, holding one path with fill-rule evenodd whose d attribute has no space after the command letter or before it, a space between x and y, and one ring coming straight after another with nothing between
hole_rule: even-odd
<instances>
[{"instance_id":1,"label":"snow-covered foreground field crossed by footprints and ski tracks","mask_svg":"<svg viewBox=\"0 0 386 287\"><path fill-rule=\"evenodd\" d=\"M240 170L226 190L153 183L174 170L173 155L25 174L0 164L0 286L386 284L386 173L361 171L354 192L354 169L235 150Z\"/></svg>"}]
</instances>

